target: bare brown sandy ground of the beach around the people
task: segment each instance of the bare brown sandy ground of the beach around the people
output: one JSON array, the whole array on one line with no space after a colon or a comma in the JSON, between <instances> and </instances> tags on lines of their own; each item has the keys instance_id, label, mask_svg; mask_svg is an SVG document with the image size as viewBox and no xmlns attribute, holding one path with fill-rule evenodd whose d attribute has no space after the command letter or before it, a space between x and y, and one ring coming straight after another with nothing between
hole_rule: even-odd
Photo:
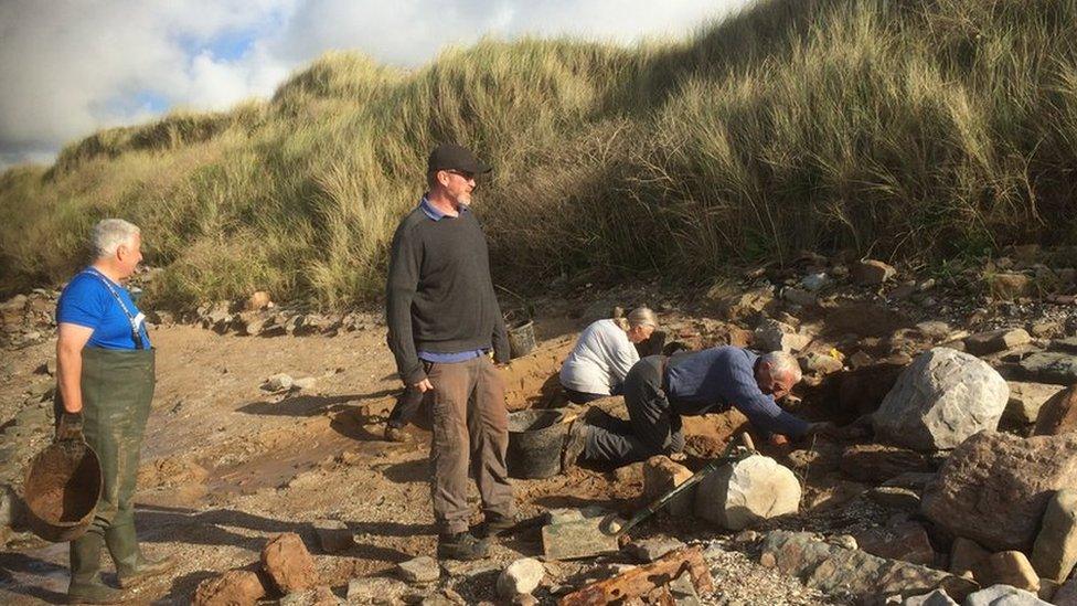
<instances>
[{"instance_id":1,"label":"bare brown sandy ground of the beach around the people","mask_svg":"<svg viewBox=\"0 0 1077 606\"><path fill-rule=\"evenodd\" d=\"M510 408L550 403L552 372L575 328L567 320L540 323L540 350L502 371ZM429 434L410 426L408 444L381 439L399 390L384 329L264 339L172 326L156 329L152 338L158 387L142 447L137 523L146 550L175 556L178 564L141 587L139 603L186 604L202 580L253 566L266 538L284 531L303 536L323 581L338 591L355 576L433 554ZM51 381L33 369L52 348L20 351L6 380L8 393ZM260 386L278 372L317 382L299 393L269 394ZM641 478L578 469L514 486L525 515L587 504L630 512ZM478 504L473 488L471 498ZM319 519L344 521L356 545L339 555L320 553L310 525ZM505 541L494 550L494 564L541 553L537 540L532 533ZM0 602L61 603L66 561L66 544L28 541L0 554L8 572ZM107 556L105 562L111 570ZM483 587L462 591L478 598Z\"/></svg>"}]
</instances>

